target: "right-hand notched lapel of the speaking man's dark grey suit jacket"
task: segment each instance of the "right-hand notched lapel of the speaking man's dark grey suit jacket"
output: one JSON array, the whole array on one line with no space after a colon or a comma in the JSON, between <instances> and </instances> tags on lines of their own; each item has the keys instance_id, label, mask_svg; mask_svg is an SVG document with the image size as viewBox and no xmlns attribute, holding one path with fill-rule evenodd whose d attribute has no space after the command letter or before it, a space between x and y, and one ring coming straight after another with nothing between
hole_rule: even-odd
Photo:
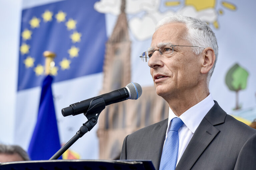
<instances>
[{"instance_id":1,"label":"right-hand notched lapel of the speaking man's dark grey suit jacket","mask_svg":"<svg viewBox=\"0 0 256 170\"><path fill-rule=\"evenodd\" d=\"M206 147L220 132L220 130L214 126L224 123L226 113L221 109L216 101L214 102L214 106L206 114L196 129L176 167L176 170L191 169Z\"/></svg>"}]
</instances>

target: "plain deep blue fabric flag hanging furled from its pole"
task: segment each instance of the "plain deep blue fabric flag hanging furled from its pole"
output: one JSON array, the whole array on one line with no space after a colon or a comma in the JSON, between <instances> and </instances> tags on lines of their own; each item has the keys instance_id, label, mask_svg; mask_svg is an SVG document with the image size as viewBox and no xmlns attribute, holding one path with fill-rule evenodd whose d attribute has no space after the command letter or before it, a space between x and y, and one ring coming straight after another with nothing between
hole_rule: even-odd
<instances>
[{"instance_id":1,"label":"plain deep blue fabric flag hanging furled from its pole","mask_svg":"<svg viewBox=\"0 0 256 170\"><path fill-rule=\"evenodd\" d=\"M37 122L28 148L31 160L48 160L60 149L52 80L48 75L43 81Z\"/></svg>"}]
</instances>

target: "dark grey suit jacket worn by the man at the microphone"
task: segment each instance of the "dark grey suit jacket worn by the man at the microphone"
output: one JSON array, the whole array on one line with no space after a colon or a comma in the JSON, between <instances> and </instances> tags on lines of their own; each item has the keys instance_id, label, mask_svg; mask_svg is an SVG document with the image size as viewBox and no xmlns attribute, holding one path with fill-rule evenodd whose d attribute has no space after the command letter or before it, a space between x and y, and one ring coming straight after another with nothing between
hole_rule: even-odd
<instances>
[{"instance_id":1,"label":"dark grey suit jacket worn by the man at the microphone","mask_svg":"<svg viewBox=\"0 0 256 170\"><path fill-rule=\"evenodd\" d=\"M125 137L120 159L152 160L159 169L168 119ZM176 170L256 170L256 130L227 115L215 101Z\"/></svg>"}]
</instances>

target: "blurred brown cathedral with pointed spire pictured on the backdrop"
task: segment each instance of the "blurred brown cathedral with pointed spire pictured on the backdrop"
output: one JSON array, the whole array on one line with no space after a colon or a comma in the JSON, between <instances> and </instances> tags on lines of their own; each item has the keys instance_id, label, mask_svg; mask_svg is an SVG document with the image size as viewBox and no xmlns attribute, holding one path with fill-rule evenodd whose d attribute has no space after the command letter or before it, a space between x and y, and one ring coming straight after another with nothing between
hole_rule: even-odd
<instances>
[{"instance_id":1,"label":"blurred brown cathedral with pointed spire pictured on the backdrop","mask_svg":"<svg viewBox=\"0 0 256 170\"><path fill-rule=\"evenodd\" d=\"M122 0L120 8L121 13L106 43L101 94L125 87L131 82L131 41L125 0ZM143 87L138 100L106 106L98 122L99 158L119 159L122 142L127 134L167 117L168 104L156 94L155 87Z\"/></svg>"}]
</instances>

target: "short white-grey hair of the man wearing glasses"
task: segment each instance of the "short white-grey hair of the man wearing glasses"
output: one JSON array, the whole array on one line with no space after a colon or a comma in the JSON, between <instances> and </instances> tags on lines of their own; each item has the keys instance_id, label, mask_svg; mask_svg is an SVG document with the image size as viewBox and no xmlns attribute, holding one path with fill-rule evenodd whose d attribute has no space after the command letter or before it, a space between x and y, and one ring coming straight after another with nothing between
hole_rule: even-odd
<instances>
[{"instance_id":1,"label":"short white-grey hair of the man wearing glasses","mask_svg":"<svg viewBox=\"0 0 256 170\"><path fill-rule=\"evenodd\" d=\"M207 84L213 74L217 58L218 58L218 44L212 29L207 25L207 23L192 17L180 16L180 15L170 15L158 22L156 30L161 26L169 23L182 23L186 26L188 34L184 37L185 40L191 43L193 46L204 46L211 47L215 52L215 62L211 70L207 74ZM181 44L182 45L182 44ZM193 52L198 55L203 51L203 48L192 48Z\"/></svg>"}]
</instances>

